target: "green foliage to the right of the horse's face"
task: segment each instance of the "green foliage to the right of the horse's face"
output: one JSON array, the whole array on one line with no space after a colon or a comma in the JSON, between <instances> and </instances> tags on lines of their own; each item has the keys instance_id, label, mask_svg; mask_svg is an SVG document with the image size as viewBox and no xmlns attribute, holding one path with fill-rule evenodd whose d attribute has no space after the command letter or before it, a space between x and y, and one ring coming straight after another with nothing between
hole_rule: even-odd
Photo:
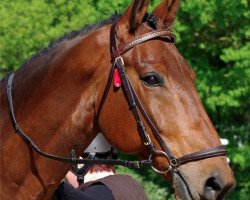
<instances>
[{"instance_id":1,"label":"green foliage to the right of the horse's face","mask_svg":"<svg viewBox=\"0 0 250 200\"><path fill-rule=\"evenodd\" d=\"M182 1L177 46L197 75L197 88L228 150L237 185L228 199L250 194L249 1Z\"/></svg>"}]
</instances>

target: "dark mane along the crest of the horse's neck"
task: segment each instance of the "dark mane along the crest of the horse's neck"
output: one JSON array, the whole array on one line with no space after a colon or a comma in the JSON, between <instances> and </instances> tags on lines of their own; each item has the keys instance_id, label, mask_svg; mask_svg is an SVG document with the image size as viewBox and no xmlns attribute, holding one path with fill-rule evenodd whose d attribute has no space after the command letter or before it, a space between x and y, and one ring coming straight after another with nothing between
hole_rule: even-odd
<instances>
[{"instance_id":1,"label":"dark mane along the crest of the horse's neck","mask_svg":"<svg viewBox=\"0 0 250 200\"><path fill-rule=\"evenodd\" d=\"M61 36L58 39L53 40L47 47L41 49L40 51L38 51L38 53L33 54L28 60L26 60L21 67L26 66L28 63L34 61L36 58L43 56L47 53L50 53L52 50L54 50L55 48L57 48L59 45L61 45L63 42L65 41L69 41L72 40L78 36L80 37L84 37L86 35L88 35L90 32L93 32L105 25L111 24L113 23L115 20L117 20L120 17L120 14L115 13L113 14L111 17L96 22L94 24L87 24L85 25L83 28L81 28L80 30L73 30L69 33L65 33L63 36Z\"/></svg>"}]
</instances>

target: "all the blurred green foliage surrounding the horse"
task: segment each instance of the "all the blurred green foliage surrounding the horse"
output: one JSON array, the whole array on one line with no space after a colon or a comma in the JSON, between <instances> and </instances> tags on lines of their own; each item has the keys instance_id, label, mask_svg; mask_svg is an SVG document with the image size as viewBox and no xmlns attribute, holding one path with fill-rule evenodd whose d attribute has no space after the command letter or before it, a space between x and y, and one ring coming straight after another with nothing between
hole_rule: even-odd
<instances>
[{"instance_id":1,"label":"all the blurred green foliage surrounding the horse","mask_svg":"<svg viewBox=\"0 0 250 200\"><path fill-rule=\"evenodd\" d=\"M151 1L152 10L160 0ZM130 0L0 0L0 77L65 32L122 12ZM177 47L221 138L237 185L227 199L250 199L250 9L248 0L182 0ZM122 157L126 157L123 155ZM170 186L152 170L118 168L139 180L152 200ZM173 198L173 196L171 196Z\"/></svg>"}]
</instances>

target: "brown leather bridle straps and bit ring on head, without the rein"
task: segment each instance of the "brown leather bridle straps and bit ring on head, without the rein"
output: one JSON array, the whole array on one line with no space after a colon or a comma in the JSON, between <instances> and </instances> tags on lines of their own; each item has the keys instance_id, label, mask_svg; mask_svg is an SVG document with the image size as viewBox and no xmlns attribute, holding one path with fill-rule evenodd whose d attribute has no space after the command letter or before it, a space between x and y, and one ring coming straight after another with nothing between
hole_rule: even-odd
<instances>
[{"instance_id":1,"label":"brown leather bridle straps and bit ring on head, without the rein","mask_svg":"<svg viewBox=\"0 0 250 200\"><path fill-rule=\"evenodd\" d=\"M97 118L99 118L101 109L105 103L105 100L108 95L108 91L111 87L114 70L117 69L119 72L121 81L122 81L123 92L127 99L129 109L132 111L132 114L137 124L137 130L139 132L139 135L144 145L147 146L149 149L150 156L148 160L151 163L151 167L154 169L154 171L165 174L169 171L174 172L179 166L186 164L188 162L202 160L202 159L211 158L211 157L217 157L217 156L225 156L226 155L225 146L212 147L206 150L201 150L201 151L197 151L194 153L190 153L181 157L174 156L169 146L167 145L166 142L164 142L160 133L158 132L158 130L152 123L151 119L149 118L148 114L146 113L139 97L137 96L128 78L128 75L126 73L125 66L124 66L124 61L123 61L123 58L121 57L122 54L126 53L133 47L139 44L142 44L146 41L152 40L152 39L164 39L165 38L170 42L174 42L175 40L174 33L166 29L154 30L144 35L141 35L138 38L133 39L132 41L128 42L127 44L119 48L117 45L117 35L116 35L115 27L116 27L116 22L112 24L111 30L110 30L110 45L111 45L110 49L111 49L112 68L109 74L109 79L108 79L106 88L104 90L104 94L100 101L99 109L97 112ZM140 117L139 112L141 113L141 116L144 118L147 125L151 129L151 132L153 133L154 138L160 144L162 150L157 150L155 148L155 145L152 143L150 139L150 136L143 124L143 121ZM167 158L169 162L169 167L166 170L164 171L159 170L153 165L152 159L157 156Z\"/></svg>"}]
</instances>

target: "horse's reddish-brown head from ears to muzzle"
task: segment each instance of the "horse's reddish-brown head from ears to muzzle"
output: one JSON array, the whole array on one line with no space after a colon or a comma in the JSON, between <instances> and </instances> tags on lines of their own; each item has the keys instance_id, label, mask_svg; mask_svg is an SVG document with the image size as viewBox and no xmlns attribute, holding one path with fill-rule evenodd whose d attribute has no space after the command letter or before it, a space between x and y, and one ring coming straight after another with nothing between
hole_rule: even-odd
<instances>
[{"instance_id":1,"label":"horse's reddish-brown head from ears to muzzle","mask_svg":"<svg viewBox=\"0 0 250 200\"><path fill-rule=\"evenodd\" d=\"M148 5L148 0L133 1L113 25L111 59L113 63L121 62L125 66L128 85L135 91L131 92L132 96L136 93L154 124L153 129L156 128L162 138L159 142L147 123L148 119L142 119L147 124L150 140L160 151L152 156L152 151L138 134L138 117L134 119L131 98L126 95L131 88L124 87L123 82L122 88L109 88L105 103L99 96L103 106L100 115L98 113L99 128L121 151L142 158L151 154L153 168L173 182L177 199L222 199L234 185L233 173L224 155L202 157L221 142L198 96L195 73L173 42L171 31L179 1L165 0L150 15L146 13ZM161 30L169 31L169 35L147 39L152 36L147 33L157 34ZM117 49L114 49L112 39L117 43ZM143 118L142 113L139 113L140 117ZM170 159L163 153L161 141L167 144ZM171 159L184 160L197 154L198 159L186 160L172 172L166 170L174 165Z\"/></svg>"}]
</instances>

